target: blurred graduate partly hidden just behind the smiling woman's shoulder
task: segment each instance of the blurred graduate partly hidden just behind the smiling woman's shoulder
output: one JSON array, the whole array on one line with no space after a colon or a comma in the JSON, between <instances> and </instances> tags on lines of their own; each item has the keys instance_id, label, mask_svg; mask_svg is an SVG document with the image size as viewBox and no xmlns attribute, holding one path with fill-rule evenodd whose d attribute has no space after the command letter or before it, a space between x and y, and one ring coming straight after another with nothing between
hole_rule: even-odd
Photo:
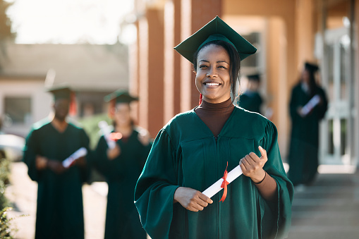
<instances>
[{"instance_id":1,"label":"blurred graduate partly hidden just behind the smiling woman's shoulder","mask_svg":"<svg viewBox=\"0 0 359 239\"><path fill-rule=\"evenodd\" d=\"M247 75L248 86L245 92L241 94L241 97L238 101L238 106L241 106L243 109L248 111L257 112L262 114L260 108L263 104L263 99L260 96L259 87L260 87L260 75Z\"/></svg>"}]
</instances>

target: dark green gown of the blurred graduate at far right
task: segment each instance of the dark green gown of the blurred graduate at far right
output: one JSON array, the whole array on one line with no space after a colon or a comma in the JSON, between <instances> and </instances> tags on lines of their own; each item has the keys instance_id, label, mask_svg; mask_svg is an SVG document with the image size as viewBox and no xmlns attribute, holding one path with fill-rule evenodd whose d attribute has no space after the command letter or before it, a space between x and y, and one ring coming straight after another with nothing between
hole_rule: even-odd
<instances>
[{"instance_id":1,"label":"dark green gown of the blurred graduate at far right","mask_svg":"<svg viewBox=\"0 0 359 239\"><path fill-rule=\"evenodd\" d=\"M297 112L298 106L305 106L312 97L304 92L301 83L292 90L289 104L292 130L288 154L288 177L294 185L311 183L317 174L319 122L324 117L328 104L322 88L317 88L317 94L320 95L322 104L315 106L308 116L302 118Z\"/></svg>"}]
</instances>

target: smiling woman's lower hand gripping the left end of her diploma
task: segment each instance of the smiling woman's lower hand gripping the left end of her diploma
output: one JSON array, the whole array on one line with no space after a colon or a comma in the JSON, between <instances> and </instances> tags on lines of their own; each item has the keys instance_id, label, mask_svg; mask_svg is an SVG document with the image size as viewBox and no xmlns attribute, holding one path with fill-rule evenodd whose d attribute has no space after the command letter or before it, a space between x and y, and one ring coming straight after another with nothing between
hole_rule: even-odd
<instances>
[{"instance_id":1,"label":"smiling woman's lower hand gripping the left end of her diploma","mask_svg":"<svg viewBox=\"0 0 359 239\"><path fill-rule=\"evenodd\" d=\"M202 192L193 188L177 188L174 192L174 203L179 202L182 207L192 212L202 211L208 204L212 204L212 200Z\"/></svg>"}]
</instances>

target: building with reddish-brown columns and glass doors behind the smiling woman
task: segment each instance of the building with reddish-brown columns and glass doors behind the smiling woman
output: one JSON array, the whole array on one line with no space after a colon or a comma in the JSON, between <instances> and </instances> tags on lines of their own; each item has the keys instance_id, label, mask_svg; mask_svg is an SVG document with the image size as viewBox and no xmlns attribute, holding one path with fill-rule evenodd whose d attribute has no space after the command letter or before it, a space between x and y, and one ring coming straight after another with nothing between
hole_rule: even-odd
<instances>
[{"instance_id":1,"label":"building with reddish-brown columns and glass doors behind the smiling woman","mask_svg":"<svg viewBox=\"0 0 359 239\"><path fill-rule=\"evenodd\" d=\"M262 93L274 113L284 159L291 87L304 61L313 61L322 69L330 102L320 160L358 164L359 0L138 0L135 8L138 41L129 50L130 90L141 96L138 121L152 135L198 104L190 63L173 47L220 16L258 49L243 61L242 74L263 74Z\"/></svg>"}]
</instances>

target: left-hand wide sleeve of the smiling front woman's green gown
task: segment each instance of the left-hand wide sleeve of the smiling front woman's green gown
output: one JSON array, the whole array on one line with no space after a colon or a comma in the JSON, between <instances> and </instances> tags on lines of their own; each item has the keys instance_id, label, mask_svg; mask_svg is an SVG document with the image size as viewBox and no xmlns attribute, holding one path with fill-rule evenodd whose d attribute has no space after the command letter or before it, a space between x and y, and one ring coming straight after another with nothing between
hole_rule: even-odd
<instances>
[{"instance_id":1,"label":"left-hand wide sleeve of the smiling front woman's green gown","mask_svg":"<svg viewBox=\"0 0 359 239\"><path fill-rule=\"evenodd\" d=\"M176 176L175 147L162 129L157 135L135 188L135 206L151 238L169 238Z\"/></svg>"}]
</instances>

